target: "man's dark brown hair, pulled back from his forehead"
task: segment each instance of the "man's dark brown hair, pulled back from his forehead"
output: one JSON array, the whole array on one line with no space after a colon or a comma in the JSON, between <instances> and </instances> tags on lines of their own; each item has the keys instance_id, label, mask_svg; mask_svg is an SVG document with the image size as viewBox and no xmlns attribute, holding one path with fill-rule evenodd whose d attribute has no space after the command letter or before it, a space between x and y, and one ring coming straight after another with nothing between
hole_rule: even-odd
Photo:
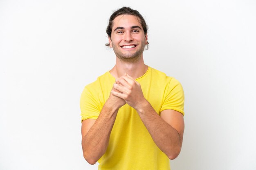
<instances>
[{"instance_id":1,"label":"man's dark brown hair, pulled back from his forehead","mask_svg":"<svg viewBox=\"0 0 256 170\"><path fill-rule=\"evenodd\" d=\"M115 20L115 18L119 15L134 15L135 17L137 17L139 19L139 23L141 24L145 35L146 35L146 33L148 33L148 26L147 26L144 18L142 17L142 15L139 13L139 11L137 11L135 9L131 9L130 7L122 7L120 9L118 9L117 11L115 11L114 13L112 13L112 15L109 18L108 26L107 26L107 29L106 29L108 37L111 37L112 27L113 27L113 24L114 24L113 20ZM149 44L149 42L148 42L148 44ZM148 46L148 44L147 44L147 46ZM105 45L109 46L110 44L107 43Z\"/></svg>"}]
</instances>

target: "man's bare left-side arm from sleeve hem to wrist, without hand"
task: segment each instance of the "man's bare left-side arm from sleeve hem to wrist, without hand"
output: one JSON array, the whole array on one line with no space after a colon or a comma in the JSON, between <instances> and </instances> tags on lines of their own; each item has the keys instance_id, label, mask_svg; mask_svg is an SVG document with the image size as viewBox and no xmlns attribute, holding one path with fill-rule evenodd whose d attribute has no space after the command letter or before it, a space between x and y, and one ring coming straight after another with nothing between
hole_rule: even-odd
<instances>
[{"instance_id":1,"label":"man's bare left-side arm from sleeve hem to wrist, without hand","mask_svg":"<svg viewBox=\"0 0 256 170\"><path fill-rule=\"evenodd\" d=\"M106 152L118 109L125 104L123 99L110 94L97 120L83 120L82 148L88 163L95 164Z\"/></svg>"}]
</instances>

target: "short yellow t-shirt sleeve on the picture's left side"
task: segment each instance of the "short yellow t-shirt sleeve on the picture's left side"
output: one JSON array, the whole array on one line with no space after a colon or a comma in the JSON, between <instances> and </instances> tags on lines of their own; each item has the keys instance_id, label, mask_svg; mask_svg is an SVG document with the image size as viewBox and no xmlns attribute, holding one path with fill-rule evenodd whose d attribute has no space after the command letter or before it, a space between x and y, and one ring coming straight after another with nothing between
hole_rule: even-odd
<instances>
[{"instance_id":1,"label":"short yellow t-shirt sleeve on the picture's left side","mask_svg":"<svg viewBox=\"0 0 256 170\"><path fill-rule=\"evenodd\" d=\"M97 119L101 109L95 95L85 87L80 99L81 122L86 119Z\"/></svg>"}]
</instances>

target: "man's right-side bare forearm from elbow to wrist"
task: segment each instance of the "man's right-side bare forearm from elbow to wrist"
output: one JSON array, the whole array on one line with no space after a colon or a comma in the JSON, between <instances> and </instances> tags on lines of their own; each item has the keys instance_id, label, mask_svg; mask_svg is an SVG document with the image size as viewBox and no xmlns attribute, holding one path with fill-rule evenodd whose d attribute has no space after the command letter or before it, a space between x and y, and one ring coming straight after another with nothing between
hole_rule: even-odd
<instances>
[{"instance_id":1,"label":"man's right-side bare forearm from elbow to wrist","mask_svg":"<svg viewBox=\"0 0 256 170\"><path fill-rule=\"evenodd\" d=\"M182 138L176 129L165 122L148 101L145 101L137 112L158 148L169 159L175 159L182 146Z\"/></svg>"}]
</instances>

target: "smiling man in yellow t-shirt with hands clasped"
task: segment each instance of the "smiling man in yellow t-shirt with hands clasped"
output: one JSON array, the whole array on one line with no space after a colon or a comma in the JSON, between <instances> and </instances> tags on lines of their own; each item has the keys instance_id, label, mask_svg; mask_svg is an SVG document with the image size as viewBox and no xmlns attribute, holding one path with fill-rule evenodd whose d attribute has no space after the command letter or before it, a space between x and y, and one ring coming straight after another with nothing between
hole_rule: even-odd
<instances>
[{"instance_id":1,"label":"smiling man in yellow t-shirt with hands clasped","mask_svg":"<svg viewBox=\"0 0 256 170\"><path fill-rule=\"evenodd\" d=\"M100 170L169 170L182 146L182 86L144 64L147 26L138 11L115 11L107 34L116 65L81 95L83 156Z\"/></svg>"}]
</instances>

